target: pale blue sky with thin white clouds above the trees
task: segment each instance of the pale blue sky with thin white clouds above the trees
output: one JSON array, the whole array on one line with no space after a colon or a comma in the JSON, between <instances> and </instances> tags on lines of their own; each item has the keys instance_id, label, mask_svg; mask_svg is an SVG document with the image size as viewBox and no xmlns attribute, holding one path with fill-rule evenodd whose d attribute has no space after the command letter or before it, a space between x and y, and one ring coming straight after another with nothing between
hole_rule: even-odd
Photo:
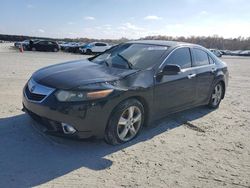
<instances>
[{"instance_id":1,"label":"pale blue sky with thin white clouds above the trees","mask_svg":"<svg viewBox=\"0 0 250 188\"><path fill-rule=\"evenodd\" d=\"M249 0L0 0L0 34L250 37Z\"/></svg>"}]
</instances>

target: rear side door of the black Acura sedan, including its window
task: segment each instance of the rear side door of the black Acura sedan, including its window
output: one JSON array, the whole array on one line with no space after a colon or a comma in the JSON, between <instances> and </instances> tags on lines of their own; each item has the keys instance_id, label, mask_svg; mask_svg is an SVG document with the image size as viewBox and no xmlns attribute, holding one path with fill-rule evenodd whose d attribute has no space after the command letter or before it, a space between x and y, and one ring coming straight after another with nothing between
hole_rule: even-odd
<instances>
[{"instance_id":1,"label":"rear side door of the black Acura sedan, including its window","mask_svg":"<svg viewBox=\"0 0 250 188\"><path fill-rule=\"evenodd\" d=\"M214 59L203 49L191 48L193 67L197 79L197 100L202 104L210 95L210 88L215 78L216 65Z\"/></svg>"}]
</instances>

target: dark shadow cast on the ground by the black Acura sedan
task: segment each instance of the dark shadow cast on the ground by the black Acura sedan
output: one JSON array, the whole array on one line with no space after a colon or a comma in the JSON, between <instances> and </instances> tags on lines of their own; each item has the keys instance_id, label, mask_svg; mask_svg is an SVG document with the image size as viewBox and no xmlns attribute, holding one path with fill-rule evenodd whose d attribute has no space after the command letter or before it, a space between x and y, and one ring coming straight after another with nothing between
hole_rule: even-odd
<instances>
[{"instance_id":1,"label":"dark shadow cast on the ground by the black Acura sedan","mask_svg":"<svg viewBox=\"0 0 250 188\"><path fill-rule=\"evenodd\" d=\"M0 119L0 187L33 187L79 168L103 170L109 154L147 141L156 135L205 116L199 107L173 114L143 129L131 142L111 146L102 140L74 141L44 135L26 114Z\"/></svg>"}]
</instances>

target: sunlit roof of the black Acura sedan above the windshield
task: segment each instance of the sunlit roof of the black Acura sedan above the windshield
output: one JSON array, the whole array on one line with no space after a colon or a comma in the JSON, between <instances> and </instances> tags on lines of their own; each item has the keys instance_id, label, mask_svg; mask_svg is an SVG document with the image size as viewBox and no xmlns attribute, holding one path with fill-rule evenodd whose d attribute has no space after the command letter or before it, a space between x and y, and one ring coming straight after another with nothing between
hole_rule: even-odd
<instances>
[{"instance_id":1,"label":"sunlit roof of the black Acura sedan above the windshield","mask_svg":"<svg viewBox=\"0 0 250 188\"><path fill-rule=\"evenodd\" d=\"M127 43L152 44L152 45L162 45L162 46L168 46L168 47L182 46L182 45L200 47L199 45L196 45L196 44L178 42L178 41L166 41L166 40L136 40L136 41L129 41Z\"/></svg>"}]
</instances>

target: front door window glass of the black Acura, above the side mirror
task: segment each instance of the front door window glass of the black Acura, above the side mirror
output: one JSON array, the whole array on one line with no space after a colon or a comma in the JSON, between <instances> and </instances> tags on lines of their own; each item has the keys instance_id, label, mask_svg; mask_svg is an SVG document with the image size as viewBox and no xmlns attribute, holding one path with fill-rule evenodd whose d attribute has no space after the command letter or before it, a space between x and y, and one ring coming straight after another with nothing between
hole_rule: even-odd
<instances>
[{"instance_id":1,"label":"front door window glass of the black Acura, above the side mirror","mask_svg":"<svg viewBox=\"0 0 250 188\"><path fill-rule=\"evenodd\" d=\"M179 48L175 50L166 61L166 64L179 65L181 69L191 67L191 55L189 48Z\"/></svg>"}]
</instances>

